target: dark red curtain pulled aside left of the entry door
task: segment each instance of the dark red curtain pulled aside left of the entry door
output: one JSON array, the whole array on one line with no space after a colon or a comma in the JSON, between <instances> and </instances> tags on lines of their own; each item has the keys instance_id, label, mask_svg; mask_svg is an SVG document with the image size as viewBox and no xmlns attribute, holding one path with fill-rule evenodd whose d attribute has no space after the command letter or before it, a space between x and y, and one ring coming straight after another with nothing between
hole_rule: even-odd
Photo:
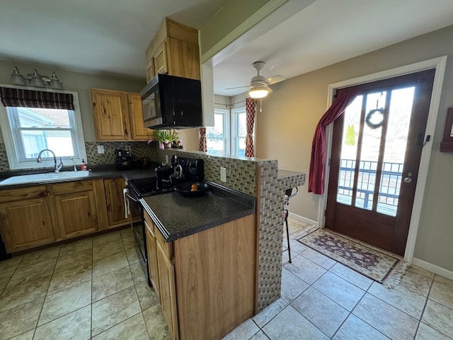
<instances>
[{"instance_id":1,"label":"dark red curtain pulled aside left of the entry door","mask_svg":"<svg viewBox=\"0 0 453 340\"><path fill-rule=\"evenodd\" d=\"M324 193L326 126L335 121L340 115L343 115L349 104L354 101L355 96L357 96L356 91L341 92L316 126L311 145L309 193L316 193L318 195Z\"/></svg>"}]
</instances>

